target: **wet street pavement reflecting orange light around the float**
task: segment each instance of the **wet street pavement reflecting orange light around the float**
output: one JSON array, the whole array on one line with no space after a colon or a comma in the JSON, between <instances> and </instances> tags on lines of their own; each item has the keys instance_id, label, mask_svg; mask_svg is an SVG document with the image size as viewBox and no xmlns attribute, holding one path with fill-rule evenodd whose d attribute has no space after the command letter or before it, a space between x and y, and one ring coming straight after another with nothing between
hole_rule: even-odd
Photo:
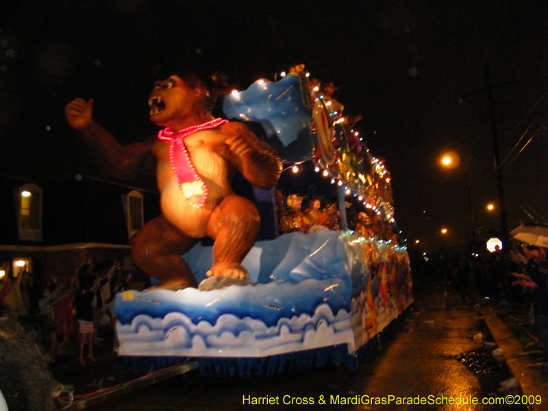
<instances>
[{"instance_id":1,"label":"wet street pavement reflecting orange light around the float","mask_svg":"<svg viewBox=\"0 0 548 411\"><path fill-rule=\"evenodd\" d=\"M520 393L518 388L500 392L500 383L512 375L506 364L490 355L496 347L489 343L493 338L473 303L448 293L442 282L433 279L415 279L414 298L412 310L361 358L355 370L330 365L248 379L202 377L195 370L86 410L527 410L523 405L496 403L497 398L515 399L513 395ZM373 397L390 403L368 403ZM449 397L477 399L479 404L439 404ZM353 405L356 399L360 403ZM398 399L426 403L405 405ZM482 405L482 399L493 405Z\"/></svg>"}]
</instances>

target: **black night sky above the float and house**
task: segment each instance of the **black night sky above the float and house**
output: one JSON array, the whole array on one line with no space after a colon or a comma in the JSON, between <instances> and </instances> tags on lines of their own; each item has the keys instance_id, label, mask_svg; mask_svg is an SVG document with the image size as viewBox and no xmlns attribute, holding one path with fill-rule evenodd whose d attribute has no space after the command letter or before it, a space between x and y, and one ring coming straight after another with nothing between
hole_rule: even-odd
<instances>
[{"instance_id":1,"label":"black night sky above the float and house","mask_svg":"<svg viewBox=\"0 0 548 411\"><path fill-rule=\"evenodd\" d=\"M0 15L2 175L97 174L64 105L93 98L95 120L121 142L149 136L149 73L171 56L197 54L240 89L303 63L338 86L347 114L362 114L356 127L392 174L403 237L461 245L471 215L478 240L500 227L485 210L498 199L487 64L508 228L548 220L545 1L10 3ZM460 155L456 169L440 166L447 150Z\"/></svg>"}]
</instances>

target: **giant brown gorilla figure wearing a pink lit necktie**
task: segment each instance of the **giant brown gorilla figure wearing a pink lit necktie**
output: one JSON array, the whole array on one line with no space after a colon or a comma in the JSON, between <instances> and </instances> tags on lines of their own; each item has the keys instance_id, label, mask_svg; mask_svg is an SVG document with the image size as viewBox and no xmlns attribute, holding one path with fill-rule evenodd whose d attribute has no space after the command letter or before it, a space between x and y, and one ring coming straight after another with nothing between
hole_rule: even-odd
<instances>
[{"instance_id":1,"label":"giant brown gorilla figure wearing a pink lit necktie","mask_svg":"<svg viewBox=\"0 0 548 411\"><path fill-rule=\"evenodd\" d=\"M256 241L256 207L234 194L236 171L253 185L273 187L282 160L244 124L215 119L210 79L197 71L163 73L149 95L149 119L165 127L158 136L122 146L92 117L93 100L66 105L66 120L79 132L111 177L134 179L155 173L162 215L132 238L136 266L160 279L156 288L197 286L182 255L200 238L214 239L208 276L246 279L241 262Z\"/></svg>"}]
</instances>

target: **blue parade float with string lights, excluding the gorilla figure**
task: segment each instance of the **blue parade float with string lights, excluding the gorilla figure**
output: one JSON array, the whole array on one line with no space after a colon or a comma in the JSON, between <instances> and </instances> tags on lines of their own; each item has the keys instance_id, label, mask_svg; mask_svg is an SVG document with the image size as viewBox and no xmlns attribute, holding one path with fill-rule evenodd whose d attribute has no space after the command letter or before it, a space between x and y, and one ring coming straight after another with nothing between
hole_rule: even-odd
<instances>
[{"instance_id":1,"label":"blue parade float with string lights, excluding the gorilla figure","mask_svg":"<svg viewBox=\"0 0 548 411\"><path fill-rule=\"evenodd\" d=\"M277 82L262 79L227 94L223 114L260 125L286 169L312 162L338 192L342 229L255 242L241 262L248 274L242 281L117 295L119 356L134 369L192 359L202 373L247 376L352 364L412 303L408 253L391 232L390 173L343 106L319 90L295 66ZM274 189L267 192L274 197ZM377 229L348 229L345 198ZM211 279L214 247L195 245L182 255L197 284Z\"/></svg>"}]
</instances>

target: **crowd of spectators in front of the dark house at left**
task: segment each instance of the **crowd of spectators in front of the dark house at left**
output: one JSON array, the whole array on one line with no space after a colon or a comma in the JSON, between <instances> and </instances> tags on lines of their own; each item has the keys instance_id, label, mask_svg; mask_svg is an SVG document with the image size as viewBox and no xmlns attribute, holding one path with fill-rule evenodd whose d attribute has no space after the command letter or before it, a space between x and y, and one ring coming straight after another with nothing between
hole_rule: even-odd
<instances>
[{"instance_id":1,"label":"crowd of spectators in front of the dark house at left","mask_svg":"<svg viewBox=\"0 0 548 411\"><path fill-rule=\"evenodd\" d=\"M0 279L0 308L34 330L51 364L62 355L77 356L82 366L95 362L94 346L103 342L101 327L114 333L112 350L118 349L114 298L132 279L121 262L88 258L69 279L34 278L23 266Z\"/></svg>"}]
</instances>

